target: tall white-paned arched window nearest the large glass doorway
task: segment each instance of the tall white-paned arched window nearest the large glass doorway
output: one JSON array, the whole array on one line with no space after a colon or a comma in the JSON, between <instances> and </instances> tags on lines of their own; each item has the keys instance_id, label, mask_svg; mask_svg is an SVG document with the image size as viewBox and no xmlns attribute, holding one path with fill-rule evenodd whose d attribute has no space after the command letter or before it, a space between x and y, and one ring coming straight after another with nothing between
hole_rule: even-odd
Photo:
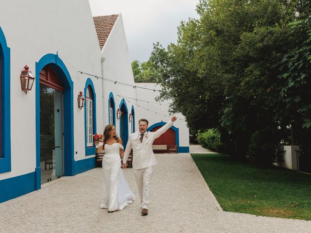
<instances>
[{"instance_id":1,"label":"tall white-paned arched window nearest the large glass doorway","mask_svg":"<svg viewBox=\"0 0 311 233\"><path fill-rule=\"evenodd\" d=\"M93 93L90 86L86 89L86 146L93 146Z\"/></svg>"}]
</instances>

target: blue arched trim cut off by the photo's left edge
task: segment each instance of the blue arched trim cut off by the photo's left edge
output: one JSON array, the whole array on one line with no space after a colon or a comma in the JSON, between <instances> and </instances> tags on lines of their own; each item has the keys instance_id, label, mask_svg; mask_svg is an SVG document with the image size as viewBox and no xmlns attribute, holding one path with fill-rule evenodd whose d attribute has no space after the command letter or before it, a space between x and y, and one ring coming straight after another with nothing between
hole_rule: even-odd
<instances>
[{"instance_id":1,"label":"blue arched trim cut off by the photo's left edge","mask_svg":"<svg viewBox=\"0 0 311 233\"><path fill-rule=\"evenodd\" d=\"M1 157L0 173L11 171L11 53L0 27ZM22 68L22 67L21 67ZM3 189L1 189L3 190Z\"/></svg>"}]
</instances>

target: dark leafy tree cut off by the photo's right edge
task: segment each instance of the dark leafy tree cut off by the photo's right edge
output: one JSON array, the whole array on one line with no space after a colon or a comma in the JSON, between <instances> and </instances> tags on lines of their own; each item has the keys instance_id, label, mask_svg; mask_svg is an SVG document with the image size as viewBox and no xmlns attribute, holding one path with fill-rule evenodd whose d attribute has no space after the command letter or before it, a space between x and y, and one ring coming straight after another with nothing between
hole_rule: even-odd
<instances>
[{"instance_id":1,"label":"dark leafy tree cut off by the photo's right edge","mask_svg":"<svg viewBox=\"0 0 311 233\"><path fill-rule=\"evenodd\" d=\"M305 3L305 2L301 2ZM280 74L278 111L283 129L291 131L288 142L299 145L300 169L311 171L311 2L298 7L298 18L288 26L297 37L298 46L283 56L277 67Z\"/></svg>"}]
</instances>

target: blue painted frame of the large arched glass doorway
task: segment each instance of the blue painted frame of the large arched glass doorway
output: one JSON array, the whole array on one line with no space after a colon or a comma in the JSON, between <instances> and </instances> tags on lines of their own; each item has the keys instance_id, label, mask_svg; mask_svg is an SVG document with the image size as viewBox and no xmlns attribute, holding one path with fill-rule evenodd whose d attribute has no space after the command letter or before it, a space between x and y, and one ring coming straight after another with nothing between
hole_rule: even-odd
<instances>
[{"instance_id":1,"label":"blue painted frame of the large arched glass doorway","mask_svg":"<svg viewBox=\"0 0 311 233\"><path fill-rule=\"evenodd\" d=\"M61 141L63 140L63 174L65 176L71 176L74 174L73 171L73 162L74 162L74 158L73 158L73 83L71 80L71 77L69 75L68 69L65 66L65 64L63 63L63 61L59 58L58 54L46 54L44 55L38 62L36 62L35 64L35 71L36 71L36 76L37 78L35 79L35 110L36 110L36 114L35 114L35 120L36 120L36 168L35 168L35 173L36 173L36 189L40 189L41 188L41 166L42 163L40 164L40 154L41 154L41 150L40 150L40 118L42 119L42 117L40 117L40 106L43 106L45 103L40 103L40 99L41 101L43 100L42 98L40 98L40 86L42 88L42 79L39 78L39 74L40 72L42 73L42 70L45 70L46 67L48 67L49 69L52 70L52 72L54 73L54 76L58 79L58 86L59 90L58 91L62 91L62 93L58 93L58 96L55 97L55 99L57 100L57 104L61 104L61 106L59 106L59 108L55 107L55 111L57 112L58 110L61 112L61 108L63 108L63 113L62 116L60 116L60 118L63 118L63 122L62 122L62 131L61 133L59 133L58 135L63 134L63 137L58 138L57 140ZM44 82L44 81L43 81ZM50 82L51 84L52 82ZM47 84L47 83L43 83L43 84ZM54 83L55 84L55 83ZM56 84L57 85L57 84ZM49 86L49 88L52 88L54 90L57 90L57 86L53 84L51 84ZM50 90L52 91L52 90ZM56 101L54 99L54 101ZM62 99L59 100L59 99ZM60 113L58 112L58 113ZM54 115L56 116L56 115ZM59 120L61 121L61 119L59 118ZM55 121L56 122L56 121ZM61 127L60 125L58 125L58 127ZM61 130L59 128L59 130ZM56 131L56 129L55 129ZM59 136L60 137L60 136ZM54 145L58 146L58 145ZM45 150L45 149L44 149ZM53 165L52 165L53 166Z\"/></svg>"}]
</instances>

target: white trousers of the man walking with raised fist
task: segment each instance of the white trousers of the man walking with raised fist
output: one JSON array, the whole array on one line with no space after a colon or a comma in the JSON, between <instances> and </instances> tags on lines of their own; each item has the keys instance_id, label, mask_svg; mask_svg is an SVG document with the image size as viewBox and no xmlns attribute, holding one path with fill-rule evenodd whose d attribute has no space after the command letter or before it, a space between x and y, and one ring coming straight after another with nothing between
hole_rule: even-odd
<instances>
[{"instance_id":1,"label":"white trousers of the man walking with raised fist","mask_svg":"<svg viewBox=\"0 0 311 233\"><path fill-rule=\"evenodd\" d=\"M148 210L151 195L151 177L154 171L153 166L142 169L135 169L134 176L138 188L141 208Z\"/></svg>"}]
</instances>

